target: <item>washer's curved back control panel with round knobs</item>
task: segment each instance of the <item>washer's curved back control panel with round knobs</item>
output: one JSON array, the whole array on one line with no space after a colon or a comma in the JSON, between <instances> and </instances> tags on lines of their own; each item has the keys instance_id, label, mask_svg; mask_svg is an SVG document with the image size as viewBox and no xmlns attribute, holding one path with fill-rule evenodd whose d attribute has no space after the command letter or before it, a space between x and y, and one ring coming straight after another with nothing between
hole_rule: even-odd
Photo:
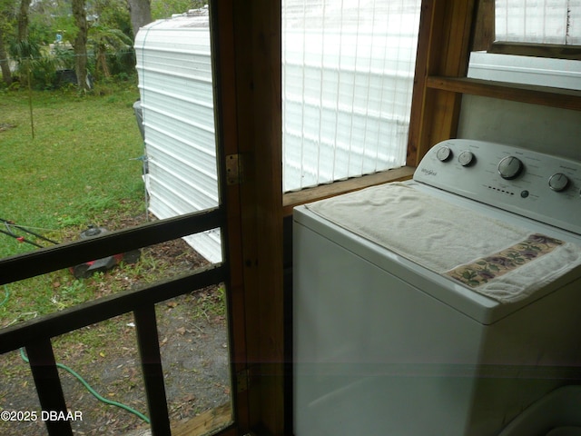
<instances>
[{"instance_id":1,"label":"washer's curved back control panel with round knobs","mask_svg":"<svg viewBox=\"0 0 581 436\"><path fill-rule=\"evenodd\" d=\"M448 139L428 151L414 180L581 234L581 161Z\"/></svg>"}]
</instances>

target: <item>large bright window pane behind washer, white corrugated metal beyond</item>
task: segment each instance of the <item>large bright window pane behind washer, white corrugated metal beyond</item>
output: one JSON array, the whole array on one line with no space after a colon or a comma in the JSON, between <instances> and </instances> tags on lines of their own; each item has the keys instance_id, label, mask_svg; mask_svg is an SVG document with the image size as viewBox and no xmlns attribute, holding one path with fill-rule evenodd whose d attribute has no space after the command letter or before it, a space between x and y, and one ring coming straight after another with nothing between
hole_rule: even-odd
<instances>
[{"instance_id":1,"label":"large bright window pane behind washer, white corrugated metal beyond","mask_svg":"<svg viewBox=\"0 0 581 436\"><path fill-rule=\"evenodd\" d=\"M405 164L420 0L282 1L283 189Z\"/></svg>"}]
</instances>

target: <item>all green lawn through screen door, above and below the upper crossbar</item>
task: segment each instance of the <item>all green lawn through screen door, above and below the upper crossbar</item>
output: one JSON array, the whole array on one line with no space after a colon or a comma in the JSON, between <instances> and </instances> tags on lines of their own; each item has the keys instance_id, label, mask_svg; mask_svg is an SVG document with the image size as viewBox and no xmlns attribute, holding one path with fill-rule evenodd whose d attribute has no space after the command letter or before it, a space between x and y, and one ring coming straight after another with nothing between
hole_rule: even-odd
<instances>
[{"instance_id":1,"label":"all green lawn through screen door, above and below the upper crossbar","mask_svg":"<svg viewBox=\"0 0 581 436\"><path fill-rule=\"evenodd\" d=\"M57 242L78 239L89 224L117 230L143 223L136 85L109 84L91 94L70 88L34 92L33 97L34 138L27 92L0 91L0 218ZM34 250L0 233L0 258ZM87 279L77 280L64 269L0 286L0 328L180 273L179 254L165 253L144 247L139 262ZM223 298L213 292L196 299L193 318L209 319L223 308Z\"/></svg>"}]
</instances>

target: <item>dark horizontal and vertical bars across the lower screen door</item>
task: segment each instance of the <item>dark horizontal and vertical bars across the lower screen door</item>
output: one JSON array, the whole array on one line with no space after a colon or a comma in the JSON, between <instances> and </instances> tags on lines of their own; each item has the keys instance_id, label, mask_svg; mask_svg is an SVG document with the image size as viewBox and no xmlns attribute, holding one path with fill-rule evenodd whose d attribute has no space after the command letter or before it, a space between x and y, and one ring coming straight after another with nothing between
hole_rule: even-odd
<instances>
[{"instance_id":1,"label":"dark horizontal and vertical bars across the lower screen door","mask_svg":"<svg viewBox=\"0 0 581 436\"><path fill-rule=\"evenodd\" d=\"M106 233L96 239L86 239L5 258L0 260L0 285L222 227L223 223L224 213L222 209L216 208ZM225 282L227 271L224 263L212 265L143 289L118 292L84 302L62 312L54 312L5 328L0 330L0 354L24 347L42 410L62 411L66 415L66 402L54 360L51 338L109 320L123 313L133 312L151 430L155 436L169 436L170 420L154 305L212 284ZM45 421L45 424L50 436L73 435L69 421Z\"/></svg>"}]
</instances>

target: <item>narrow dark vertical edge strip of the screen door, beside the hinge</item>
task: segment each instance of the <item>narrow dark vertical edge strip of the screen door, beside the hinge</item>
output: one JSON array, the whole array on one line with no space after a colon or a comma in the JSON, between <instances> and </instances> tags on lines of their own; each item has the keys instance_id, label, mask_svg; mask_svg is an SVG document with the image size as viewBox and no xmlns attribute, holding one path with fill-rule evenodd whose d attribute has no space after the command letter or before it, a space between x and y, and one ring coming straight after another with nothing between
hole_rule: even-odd
<instances>
[{"instance_id":1,"label":"narrow dark vertical edge strip of the screen door, beside the hinge","mask_svg":"<svg viewBox=\"0 0 581 436\"><path fill-rule=\"evenodd\" d=\"M216 107L217 159L225 180L227 156L240 154L238 137L239 117L238 81L240 65L236 62L237 34L234 32L234 7L231 0L211 3L212 62L214 74L214 103ZM246 120L241 120L242 122ZM228 260L227 283L228 316L230 325L231 377L233 416L240 432L251 428L249 391L238 391L237 374L246 372L247 328L246 293L244 282L244 253L242 251L241 185L221 184L222 201L226 209L226 225L222 234L222 246Z\"/></svg>"}]
</instances>

